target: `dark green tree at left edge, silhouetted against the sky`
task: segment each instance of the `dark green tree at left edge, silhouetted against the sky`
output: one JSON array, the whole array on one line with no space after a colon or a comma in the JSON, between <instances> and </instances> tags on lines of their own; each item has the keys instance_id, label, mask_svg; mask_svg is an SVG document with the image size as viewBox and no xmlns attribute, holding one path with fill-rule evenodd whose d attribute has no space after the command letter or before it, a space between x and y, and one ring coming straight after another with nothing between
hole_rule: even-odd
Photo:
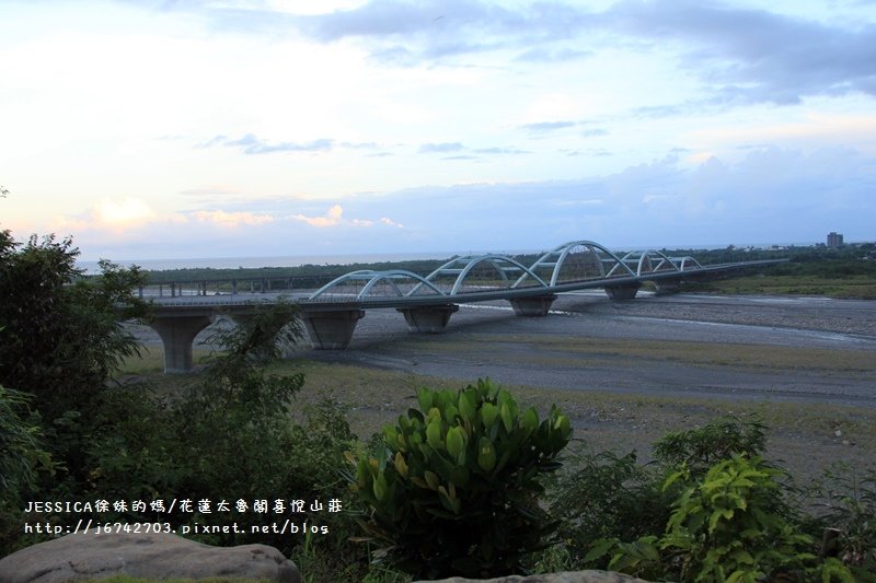
<instances>
[{"instance_id":1,"label":"dark green tree at left edge, silhouetted against the sky","mask_svg":"<svg viewBox=\"0 0 876 583\"><path fill-rule=\"evenodd\" d=\"M87 278L78 255L69 237L0 231L0 384L35 395L47 422L88 405L139 346L122 324L145 314L138 268L101 261Z\"/></svg>"}]
</instances>

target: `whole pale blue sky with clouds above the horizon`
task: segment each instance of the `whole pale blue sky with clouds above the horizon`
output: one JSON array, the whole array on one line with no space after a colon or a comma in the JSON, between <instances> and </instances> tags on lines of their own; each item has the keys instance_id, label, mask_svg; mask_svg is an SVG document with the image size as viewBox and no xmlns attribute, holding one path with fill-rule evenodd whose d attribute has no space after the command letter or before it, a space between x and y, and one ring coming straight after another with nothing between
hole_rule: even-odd
<instances>
[{"instance_id":1,"label":"whole pale blue sky with clouds above the horizon","mask_svg":"<svg viewBox=\"0 0 876 583\"><path fill-rule=\"evenodd\" d=\"M876 0L0 0L83 259L876 240Z\"/></svg>"}]
</instances>

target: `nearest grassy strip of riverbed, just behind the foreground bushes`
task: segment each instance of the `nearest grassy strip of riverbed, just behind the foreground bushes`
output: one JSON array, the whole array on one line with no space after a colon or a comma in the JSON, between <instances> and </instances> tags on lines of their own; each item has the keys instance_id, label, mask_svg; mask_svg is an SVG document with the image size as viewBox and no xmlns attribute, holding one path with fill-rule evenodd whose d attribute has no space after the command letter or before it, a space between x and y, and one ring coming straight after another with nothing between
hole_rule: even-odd
<instances>
[{"instance_id":1,"label":"nearest grassy strip of riverbed, just behind the foreground bushes","mask_svg":"<svg viewBox=\"0 0 876 583\"><path fill-rule=\"evenodd\" d=\"M304 361L306 374L298 400L304 407L322 396L345 403L353 430L362 439L394 423L415 406L418 386L460 388L456 380L405 374L349 364ZM474 378L472 378L472 382ZM542 413L556 404L572 420L579 446L625 454L635 450L650 458L650 444L670 431L705 424L725 416L757 416L770 428L768 456L781 460L799 481L820 475L834 460L861 467L875 466L876 411L851 407L799 404L728 401L696 397L653 397L600 390L506 385L521 405ZM840 431L840 435L837 435Z\"/></svg>"}]
</instances>

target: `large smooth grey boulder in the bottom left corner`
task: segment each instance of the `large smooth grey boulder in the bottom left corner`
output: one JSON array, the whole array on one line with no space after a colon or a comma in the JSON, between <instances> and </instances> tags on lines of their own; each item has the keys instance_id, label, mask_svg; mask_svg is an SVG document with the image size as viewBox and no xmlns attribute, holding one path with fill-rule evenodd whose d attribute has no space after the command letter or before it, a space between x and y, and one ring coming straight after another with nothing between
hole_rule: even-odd
<instances>
[{"instance_id":1,"label":"large smooth grey boulder in the bottom left corner","mask_svg":"<svg viewBox=\"0 0 876 583\"><path fill-rule=\"evenodd\" d=\"M0 560L0 583L65 583L117 574L146 579L243 576L301 583L274 547L210 547L164 534L73 534Z\"/></svg>"}]
</instances>

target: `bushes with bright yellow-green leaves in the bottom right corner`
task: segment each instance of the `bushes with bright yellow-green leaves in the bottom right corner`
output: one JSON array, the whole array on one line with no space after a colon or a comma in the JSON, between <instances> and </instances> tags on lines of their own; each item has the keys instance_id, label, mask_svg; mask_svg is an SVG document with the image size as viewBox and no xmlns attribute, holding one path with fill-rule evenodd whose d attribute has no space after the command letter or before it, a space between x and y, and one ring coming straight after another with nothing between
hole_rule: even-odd
<instances>
[{"instance_id":1,"label":"bushes with bright yellow-green leaves in the bottom right corner","mask_svg":"<svg viewBox=\"0 0 876 583\"><path fill-rule=\"evenodd\" d=\"M578 459L551 502L564 545L540 568L599 568L649 581L876 581L876 478L832 477L828 511L804 513L785 473L760 457L764 427L721 418L669 433L656 463L602 453ZM830 534L820 545L822 533Z\"/></svg>"}]
</instances>

